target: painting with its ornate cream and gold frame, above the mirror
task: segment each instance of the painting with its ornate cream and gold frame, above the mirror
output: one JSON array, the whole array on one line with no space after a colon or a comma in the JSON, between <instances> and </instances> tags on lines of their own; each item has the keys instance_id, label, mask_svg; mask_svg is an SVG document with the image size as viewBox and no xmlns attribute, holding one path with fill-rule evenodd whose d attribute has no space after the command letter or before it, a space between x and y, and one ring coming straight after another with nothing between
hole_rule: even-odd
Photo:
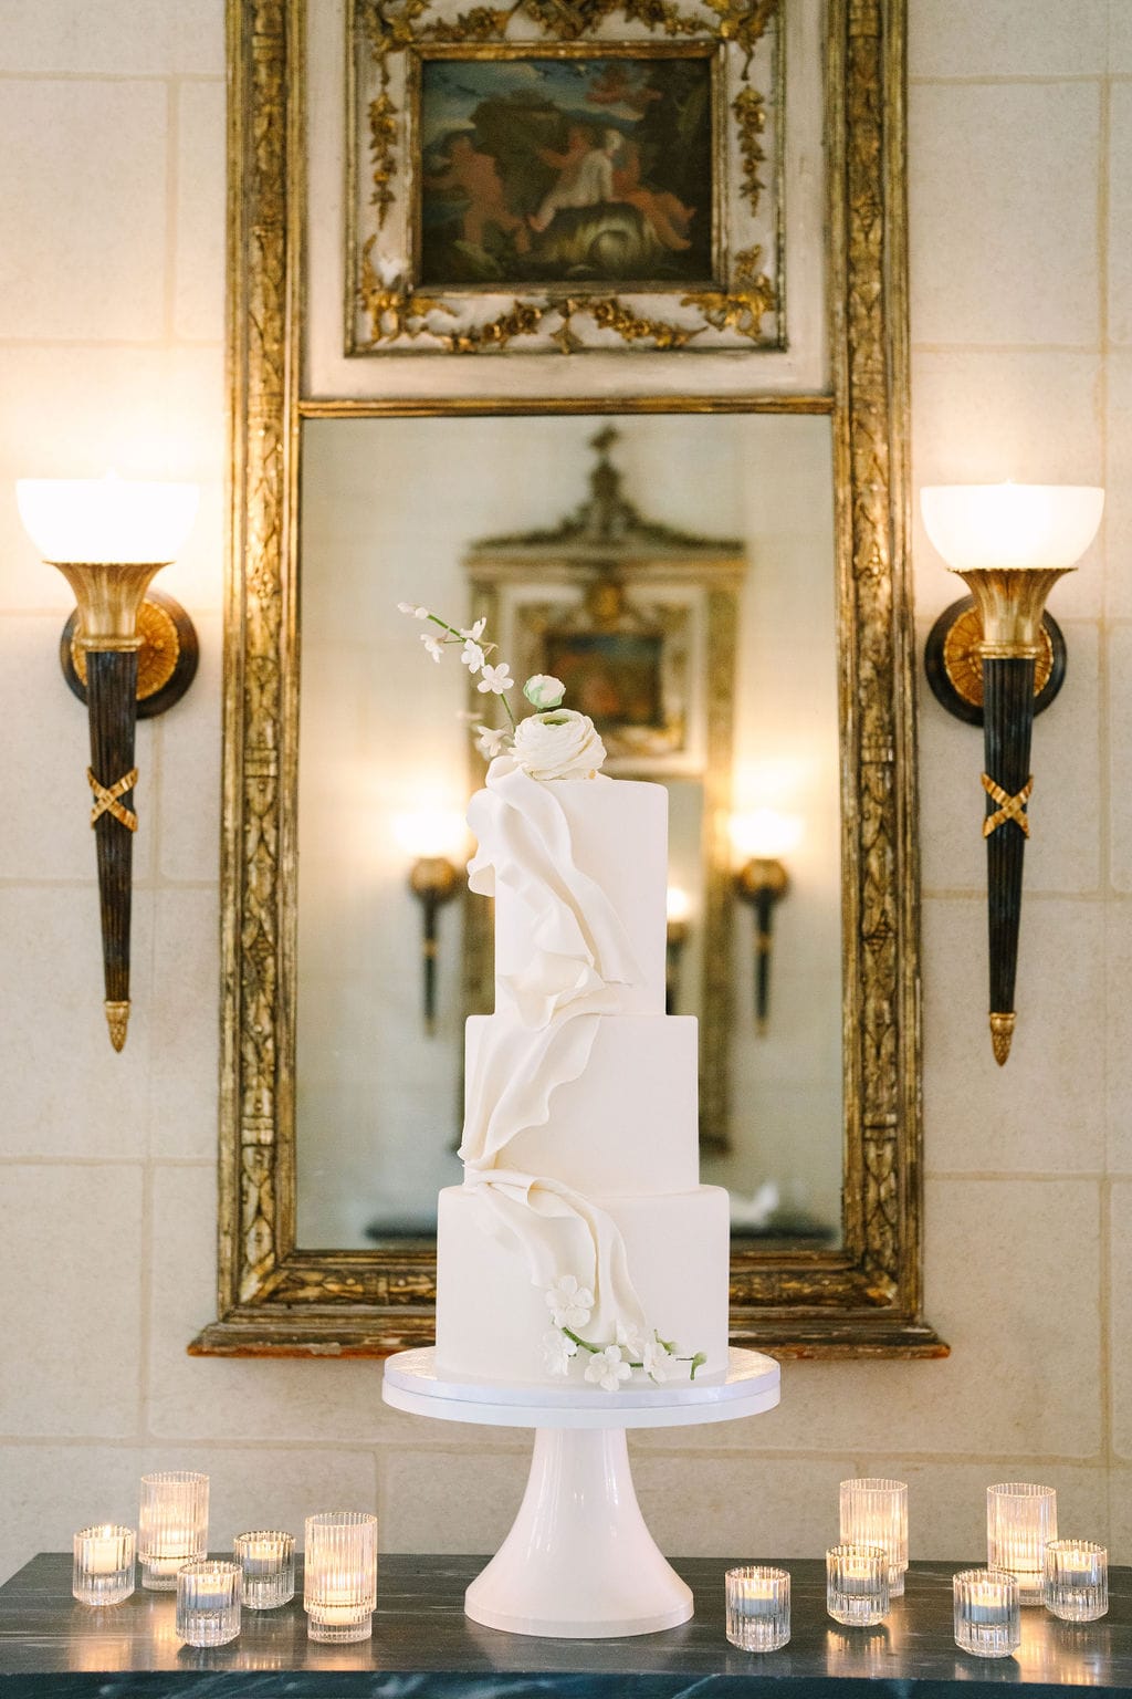
<instances>
[{"instance_id":1,"label":"painting with its ornate cream and gold frame, above the mirror","mask_svg":"<svg viewBox=\"0 0 1132 1699\"><path fill-rule=\"evenodd\" d=\"M351 0L346 353L784 348L777 0L457 5Z\"/></svg>"}]
</instances>

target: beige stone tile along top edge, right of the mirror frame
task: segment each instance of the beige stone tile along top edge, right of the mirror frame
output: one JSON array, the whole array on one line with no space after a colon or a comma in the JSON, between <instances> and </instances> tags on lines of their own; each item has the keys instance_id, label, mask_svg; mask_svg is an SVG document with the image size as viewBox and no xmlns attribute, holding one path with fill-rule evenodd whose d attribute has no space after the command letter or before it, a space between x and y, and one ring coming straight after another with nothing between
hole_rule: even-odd
<instances>
[{"instance_id":1,"label":"beige stone tile along top edge, right of the mirror frame","mask_svg":"<svg viewBox=\"0 0 1132 1699\"><path fill-rule=\"evenodd\" d=\"M1122 7L1125 0L1115 0ZM916 0L911 76L1088 76L1107 63L1108 0Z\"/></svg>"}]
</instances>

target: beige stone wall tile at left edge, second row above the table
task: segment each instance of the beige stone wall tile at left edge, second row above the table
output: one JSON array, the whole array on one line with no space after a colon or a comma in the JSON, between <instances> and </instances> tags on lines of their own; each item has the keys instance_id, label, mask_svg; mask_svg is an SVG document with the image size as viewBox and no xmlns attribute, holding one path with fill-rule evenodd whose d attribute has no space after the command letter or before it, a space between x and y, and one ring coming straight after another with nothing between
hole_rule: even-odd
<instances>
[{"instance_id":1,"label":"beige stone wall tile at left edge, second row above the table","mask_svg":"<svg viewBox=\"0 0 1132 1699\"><path fill-rule=\"evenodd\" d=\"M14 1162L2 1184L3 1351L24 1371L0 1378L0 1434L134 1434L141 1167Z\"/></svg>"}]
</instances>

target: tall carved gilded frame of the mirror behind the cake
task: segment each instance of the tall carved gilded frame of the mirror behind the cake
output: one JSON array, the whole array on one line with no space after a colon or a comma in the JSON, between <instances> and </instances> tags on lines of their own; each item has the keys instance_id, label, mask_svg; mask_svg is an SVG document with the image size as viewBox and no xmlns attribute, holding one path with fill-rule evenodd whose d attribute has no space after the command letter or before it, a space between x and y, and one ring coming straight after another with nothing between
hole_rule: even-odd
<instances>
[{"instance_id":1,"label":"tall carved gilded frame of the mirror behind the cake","mask_svg":"<svg viewBox=\"0 0 1132 1699\"><path fill-rule=\"evenodd\" d=\"M205 1354L433 1337L428 1249L295 1244L302 0L229 0L231 545L224 669L217 1320ZM832 396L399 403L421 415L830 413L838 559L843 1242L731 1257L731 1339L944 1356L922 1308L916 727L908 566L905 0L828 0Z\"/></svg>"}]
</instances>

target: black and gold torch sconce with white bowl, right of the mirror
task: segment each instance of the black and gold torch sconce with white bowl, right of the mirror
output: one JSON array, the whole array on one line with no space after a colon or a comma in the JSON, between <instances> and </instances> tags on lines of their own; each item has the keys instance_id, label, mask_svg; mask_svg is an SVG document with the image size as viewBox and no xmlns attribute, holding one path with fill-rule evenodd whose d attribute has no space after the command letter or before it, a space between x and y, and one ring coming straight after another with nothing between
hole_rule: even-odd
<instances>
[{"instance_id":1,"label":"black and gold torch sconce with white bowl, right of the mirror","mask_svg":"<svg viewBox=\"0 0 1132 1699\"><path fill-rule=\"evenodd\" d=\"M972 673L981 673L989 1026L1000 1067L1010 1055L1015 1031L1035 693L1044 695L1042 707L1052 702L1066 668L1061 632L1052 620L1044 627L1045 598L1091 544L1103 505L1103 489L1074 484L944 484L920 491L932 544L974 596L972 603L964 598L940 617L928 639L930 659L925 659L942 705L976 724ZM955 637L962 620L967 622L966 637Z\"/></svg>"}]
</instances>

